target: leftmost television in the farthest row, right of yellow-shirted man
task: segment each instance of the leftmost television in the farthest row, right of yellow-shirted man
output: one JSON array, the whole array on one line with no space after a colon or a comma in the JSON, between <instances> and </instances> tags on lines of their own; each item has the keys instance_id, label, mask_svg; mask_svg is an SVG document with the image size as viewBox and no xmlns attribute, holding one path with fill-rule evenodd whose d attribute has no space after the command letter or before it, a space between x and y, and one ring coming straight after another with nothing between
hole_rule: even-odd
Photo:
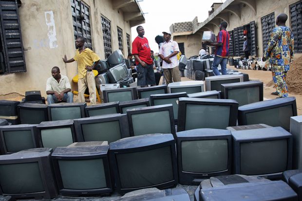
<instances>
[{"instance_id":1,"label":"leftmost television in the farthest row, right of yellow-shirted man","mask_svg":"<svg viewBox=\"0 0 302 201\"><path fill-rule=\"evenodd\" d=\"M135 87L109 89L103 91L104 102L114 101L130 101L137 99L137 92Z\"/></svg>"}]
</instances>

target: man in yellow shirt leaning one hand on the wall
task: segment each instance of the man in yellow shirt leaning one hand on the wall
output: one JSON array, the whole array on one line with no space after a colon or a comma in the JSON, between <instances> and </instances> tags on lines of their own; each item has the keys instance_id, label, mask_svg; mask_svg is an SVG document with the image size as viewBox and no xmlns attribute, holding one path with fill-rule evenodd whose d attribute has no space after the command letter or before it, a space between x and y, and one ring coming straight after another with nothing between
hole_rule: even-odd
<instances>
[{"instance_id":1,"label":"man in yellow shirt leaning one hand on the wall","mask_svg":"<svg viewBox=\"0 0 302 201\"><path fill-rule=\"evenodd\" d=\"M67 59L64 55L63 61L65 63L71 63L77 61L77 71L78 71L78 102L85 102L84 92L88 87L89 99L92 105L96 104L96 94L95 94L95 81L93 69L100 60L99 56L94 53L89 48L84 47L85 38L76 38L76 55L74 58ZM94 65L93 65L94 63Z\"/></svg>"}]
</instances>

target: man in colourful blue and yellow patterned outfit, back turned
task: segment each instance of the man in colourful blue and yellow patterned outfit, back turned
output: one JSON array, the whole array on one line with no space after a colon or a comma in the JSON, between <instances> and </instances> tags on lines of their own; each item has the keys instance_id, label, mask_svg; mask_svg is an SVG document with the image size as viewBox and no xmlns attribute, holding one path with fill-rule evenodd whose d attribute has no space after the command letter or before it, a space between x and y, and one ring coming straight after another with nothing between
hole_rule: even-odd
<instances>
[{"instance_id":1,"label":"man in colourful blue and yellow patterned outfit, back turned","mask_svg":"<svg viewBox=\"0 0 302 201\"><path fill-rule=\"evenodd\" d=\"M263 61L268 59L272 66L273 81L279 98L288 96L285 78L294 56L294 36L290 28L285 26L286 20L287 15L284 13L277 16L278 27L273 29L262 57Z\"/></svg>"}]
</instances>

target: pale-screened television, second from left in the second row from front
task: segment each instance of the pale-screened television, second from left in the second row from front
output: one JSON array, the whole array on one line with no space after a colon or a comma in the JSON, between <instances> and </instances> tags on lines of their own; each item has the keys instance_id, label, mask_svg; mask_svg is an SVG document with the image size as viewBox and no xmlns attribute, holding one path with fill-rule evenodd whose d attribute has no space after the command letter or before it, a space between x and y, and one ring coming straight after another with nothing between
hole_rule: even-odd
<instances>
[{"instance_id":1,"label":"pale-screened television, second from left in the second row from front","mask_svg":"<svg viewBox=\"0 0 302 201\"><path fill-rule=\"evenodd\" d=\"M40 147L56 148L77 142L73 120L41 122L37 129Z\"/></svg>"}]
</instances>

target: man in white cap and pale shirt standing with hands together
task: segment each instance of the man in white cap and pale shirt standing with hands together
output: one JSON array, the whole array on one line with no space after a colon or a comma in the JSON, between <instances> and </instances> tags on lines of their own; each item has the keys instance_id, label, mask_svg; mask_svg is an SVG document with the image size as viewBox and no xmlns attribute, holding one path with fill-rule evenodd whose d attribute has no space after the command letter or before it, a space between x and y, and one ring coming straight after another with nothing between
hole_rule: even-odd
<instances>
[{"instance_id":1,"label":"man in white cap and pale shirt standing with hands together","mask_svg":"<svg viewBox=\"0 0 302 201\"><path fill-rule=\"evenodd\" d=\"M159 49L159 57L163 60L164 76L167 85L171 82L180 82L180 72L178 69L177 54L179 52L178 43L171 40L171 32L164 31L164 44Z\"/></svg>"}]
</instances>

